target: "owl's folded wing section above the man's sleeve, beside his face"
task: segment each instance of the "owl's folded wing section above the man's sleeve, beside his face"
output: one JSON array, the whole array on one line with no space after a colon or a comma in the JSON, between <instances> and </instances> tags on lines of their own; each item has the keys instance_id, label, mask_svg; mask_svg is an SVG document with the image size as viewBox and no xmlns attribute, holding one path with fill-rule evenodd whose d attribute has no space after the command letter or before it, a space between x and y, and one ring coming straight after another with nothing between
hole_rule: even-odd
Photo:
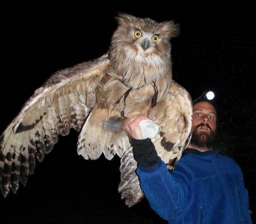
<instances>
[{"instance_id":1,"label":"owl's folded wing section above the man's sleeve, beside his face","mask_svg":"<svg viewBox=\"0 0 256 224\"><path fill-rule=\"evenodd\" d=\"M167 101L163 103L166 116L164 119L157 118L161 132L154 144L158 155L172 171L191 139L193 106L187 90L173 80Z\"/></svg>"}]
</instances>

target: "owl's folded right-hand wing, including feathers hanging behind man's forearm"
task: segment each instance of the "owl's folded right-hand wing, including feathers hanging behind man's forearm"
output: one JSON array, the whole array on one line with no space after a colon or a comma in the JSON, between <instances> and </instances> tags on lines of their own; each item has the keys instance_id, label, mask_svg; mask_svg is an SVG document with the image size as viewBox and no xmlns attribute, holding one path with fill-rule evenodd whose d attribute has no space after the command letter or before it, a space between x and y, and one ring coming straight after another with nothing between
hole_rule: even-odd
<instances>
[{"instance_id":1,"label":"owl's folded right-hand wing, including feathers hanging behind man's forearm","mask_svg":"<svg viewBox=\"0 0 256 224\"><path fill-rule=\"evenodd\" d=\"M167 164L171 172L190 142L192 115L189 93L173 80L167 98L149 113L149 117L161 128L160 134L152 139L152 142L158 156ZM135 173L136 168L137 162L133 158L132 148L129 148L121 159L121 182L118 187L118 191L122 192L122 199L125 198L125 203L129 207L144 197Z\"/></svg>"}]
</instances>

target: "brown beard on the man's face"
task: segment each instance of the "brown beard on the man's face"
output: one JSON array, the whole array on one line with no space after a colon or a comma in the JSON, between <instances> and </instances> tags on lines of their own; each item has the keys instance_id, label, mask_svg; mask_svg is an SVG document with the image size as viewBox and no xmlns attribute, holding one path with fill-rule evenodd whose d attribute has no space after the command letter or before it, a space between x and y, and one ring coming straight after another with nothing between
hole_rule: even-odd
<instances>
[{"instance_id":1,"label":"brown beard on the man's face","mask_svg":"<svg viewBox=\"0 0 256 224\"><path fill-rule=\"evenodd\" d=\"M198 128L207 127L210 130L209 132L205 131L198 131ZM197 126L193 127L192 137L190 143L198 148L200 151L209 151L213 147L214 139L215 139L216 131L213 131L209 124L198 124Z\"/></svg>"}]
</instances>

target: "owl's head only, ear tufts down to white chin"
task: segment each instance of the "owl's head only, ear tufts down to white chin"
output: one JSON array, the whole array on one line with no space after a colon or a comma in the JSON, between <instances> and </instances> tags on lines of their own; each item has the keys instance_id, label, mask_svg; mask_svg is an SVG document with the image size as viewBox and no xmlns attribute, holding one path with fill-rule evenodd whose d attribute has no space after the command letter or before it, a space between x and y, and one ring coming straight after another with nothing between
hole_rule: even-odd
<instances>
[{"instance_id":1,"label":"owl's head only, ear tufts down to white chin","mask_svg":"<svg viewBox=\"0 0 256 224\"><path fill-rule=\"evenodd\" d=\"M173 21L158 23L150 18L138 18L126 13L118 13L118 27L111 40L110 56L148 61L168 60L170 39L179 35L179 24ZM149 57L150 56L150 57ZM114 59L114 58L113 58Z\"/></svg>"}]
</instances>

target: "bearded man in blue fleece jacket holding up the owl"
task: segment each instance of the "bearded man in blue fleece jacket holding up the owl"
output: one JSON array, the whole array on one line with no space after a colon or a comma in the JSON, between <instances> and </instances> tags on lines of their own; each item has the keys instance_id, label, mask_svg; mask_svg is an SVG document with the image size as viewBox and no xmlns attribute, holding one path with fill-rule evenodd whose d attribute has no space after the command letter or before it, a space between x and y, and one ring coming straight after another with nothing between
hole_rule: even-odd
<instances>
[{"instance_id":1,"label":"bearded man in blue fleece jacket holding up the owl","mask_svg":"<svg viewBox=\"0 0 256 224\"><path fill-rule=\"evenodd\" d=\"M191 142L172 174L151 139L142 139L139 122L147 117L134 117L123 127L133 143L141 188L151 208L169 223L252 223L239 165L213 149L216 108L204 97L194 101Z\"/></svg>"}]
</instances>

